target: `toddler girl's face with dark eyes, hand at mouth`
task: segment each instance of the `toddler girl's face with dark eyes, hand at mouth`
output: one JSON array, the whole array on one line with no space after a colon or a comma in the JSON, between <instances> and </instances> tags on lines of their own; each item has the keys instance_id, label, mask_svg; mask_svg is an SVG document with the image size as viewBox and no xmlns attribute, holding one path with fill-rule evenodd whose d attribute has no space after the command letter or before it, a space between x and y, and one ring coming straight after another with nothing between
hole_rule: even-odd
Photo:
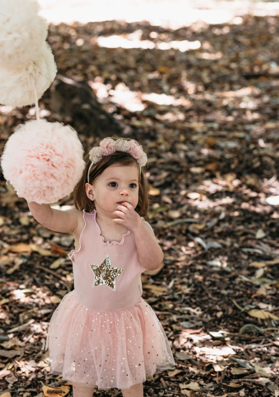
<instances>
[{"instance_id":1,"label":"toddler girl's face with dark eyes, hand at mouth","mask_svg":"<svg viewBox=\"0 0 279 397\"><path fill-rule=\"evenodd\" d=\"M87 184L89 185L89 184ZM128 202L135 209L139 198L139 169L136 164L109 166L93 182L91 186L97 212L103 212L110 217L116 207L122 202ZM89 188L90 189L90 188ZM87 195L90 197L90 194Z\"/></svg>"}]
</instances>

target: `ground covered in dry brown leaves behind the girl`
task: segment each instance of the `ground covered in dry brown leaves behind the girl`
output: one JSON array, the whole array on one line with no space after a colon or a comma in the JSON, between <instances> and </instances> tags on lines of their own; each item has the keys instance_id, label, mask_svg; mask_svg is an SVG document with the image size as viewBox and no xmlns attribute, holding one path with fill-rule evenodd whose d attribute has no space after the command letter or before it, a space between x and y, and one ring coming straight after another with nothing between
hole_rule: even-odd
<instances>
[{"instance_id":1,"label":"ground covered in dry brown leaves behind the girl","mask_svg":"<svg viewBox=\"0 0 279 397\"><path fill-rule=\"evenodd\" d=\"M176 368L149 378L146 396L279 395L278 37L275 15L177 30L50 25L58 71L87 83L149 157L165 260L143 275L143 297ZM54 119L49 92L40 108ZM3 148L34 111L1 111ZM86 151L98 138L79 137ZM42 397L63 384L44 349L50 316L73 287L73 239L37 224L3 178L0 195L0 391Z\"/></svg>"}]
</instances>

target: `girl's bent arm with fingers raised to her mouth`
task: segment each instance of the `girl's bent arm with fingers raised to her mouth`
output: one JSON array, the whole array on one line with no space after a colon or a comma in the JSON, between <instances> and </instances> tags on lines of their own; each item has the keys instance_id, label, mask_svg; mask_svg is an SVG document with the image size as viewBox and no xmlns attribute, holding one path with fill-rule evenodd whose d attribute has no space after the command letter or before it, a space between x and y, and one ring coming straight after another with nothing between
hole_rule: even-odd
<instances>
[{"instance_id":1,"label":"girl's bent arm with fingers raised to her mouth","mask_svg":"<svg viewBox=\"0 0 279 397\"><path fill-rule=\"evenodd\" d=\"M118 216L114 219L115 223L124 225L134 233L139 262L142 266L147 270L157 269L163 261L164 254L149 223L143 221L128 203L118 206L114 214Z\"/></svg>"}]
</instances>

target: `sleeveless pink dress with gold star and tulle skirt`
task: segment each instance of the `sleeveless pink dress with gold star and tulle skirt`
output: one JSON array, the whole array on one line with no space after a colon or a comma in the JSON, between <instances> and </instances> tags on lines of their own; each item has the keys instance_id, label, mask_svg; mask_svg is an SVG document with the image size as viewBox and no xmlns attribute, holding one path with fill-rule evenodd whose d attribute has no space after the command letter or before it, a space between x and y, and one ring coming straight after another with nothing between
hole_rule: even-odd
<instances>
[{"instance_id":1,"label":"sleeveless pink dress with gold star and tulle skirt","mask_svg":"<svg viewBox=\"0 0 279 397\"><path fill-rule=\"evenodd\" d=\"M96 212L83 211L83 219L80 248L69 254L74 290L50 320L52 372L85 386L127 389L171 368L174 359L161 323L141 298L145 269L133 233L105 242Z\"/></svg>"}]
</instances>

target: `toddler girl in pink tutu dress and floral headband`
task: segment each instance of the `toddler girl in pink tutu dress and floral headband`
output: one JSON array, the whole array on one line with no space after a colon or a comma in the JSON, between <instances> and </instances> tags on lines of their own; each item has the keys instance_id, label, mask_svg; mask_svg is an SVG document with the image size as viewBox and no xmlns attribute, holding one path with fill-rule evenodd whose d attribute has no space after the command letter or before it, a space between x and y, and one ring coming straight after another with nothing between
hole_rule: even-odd
<instances>
[{"instance_id":1,"label":"toddler girl in pink tutu dress and floral headband","mask_svg":"<svg viewBox=\"0 0 279 397\"><path fill-rule=\"evenodd\" d=\"M163 260L146 221L146 161L137 141L105 138L85 156L76 209L28 203L39 223L75 239L74 290L56 308L47 338L52 372L73 384L74 397L91 397L96 387L142 397L146 375L174 366L161 323L141 298L141 273Z\"/></svg>"}]
</instances>

